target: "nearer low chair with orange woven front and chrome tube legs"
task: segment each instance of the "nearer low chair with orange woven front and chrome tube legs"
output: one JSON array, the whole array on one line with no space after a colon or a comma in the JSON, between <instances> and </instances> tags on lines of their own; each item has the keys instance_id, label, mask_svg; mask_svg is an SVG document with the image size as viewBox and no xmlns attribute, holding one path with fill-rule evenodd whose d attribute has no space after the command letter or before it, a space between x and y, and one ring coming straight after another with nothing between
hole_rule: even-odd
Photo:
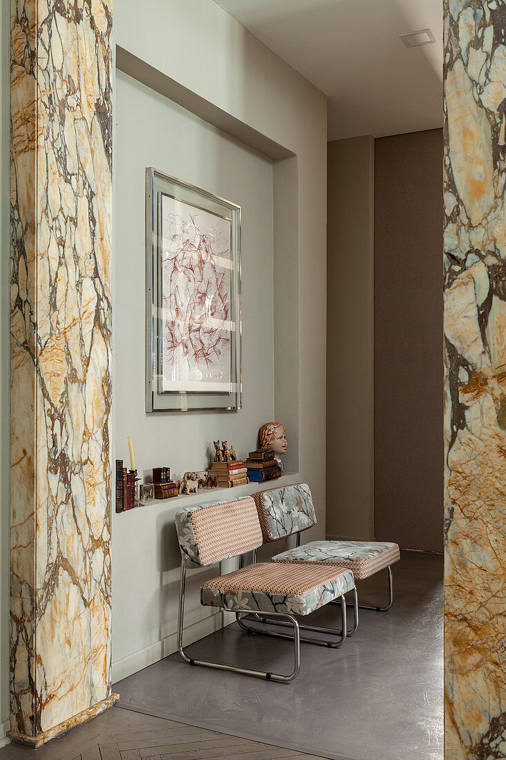
<instances>
[{"instance_id":1,"label":"nearer low chair with orange woven front and chrome tube legs","mask_svg":"<svg viewBox=\"0 0 506 760\"><path fill-rule=\"evenodd\" d=\"M294 568L293 565L283 563L258 562L206 581L201 586L201 603L236 613L239 623L242 623L242 615L264 613L276 622L291 626L293 634L273 634L261 629L254 632L293 641L293 672L288 675L269 673L188 657L182 645L187 569L213 565L223 559L258 549L263 538L257 508L251 496L232 502L183 509L176 513L176 530L182 556L177 641L179 654L187 663L286 682L292 681L299 673L300 641L334 648L346 641L344 594L353 591L355 587L352 572L346 568L322 565L298 565ZM321 641L301 636L296 615L308 615L333 600L339 600L341 605L342 628L340 632L331 630L334 636L339 634L339 638Z\"/></svg>"}]
</instances>

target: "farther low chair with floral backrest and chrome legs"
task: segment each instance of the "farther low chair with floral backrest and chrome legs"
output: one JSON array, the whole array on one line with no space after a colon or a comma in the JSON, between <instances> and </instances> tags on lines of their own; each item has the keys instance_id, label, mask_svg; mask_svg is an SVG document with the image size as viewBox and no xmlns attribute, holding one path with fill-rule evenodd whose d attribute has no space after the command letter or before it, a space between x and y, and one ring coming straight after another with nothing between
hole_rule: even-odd
<instances>
[{"instance_id":1,"label":"farther low chair with floral backrest and chrome legs","mask_svg":"<svg viewBox=\"0 0 506 760\"><path fill-rule=\"evenodd\" d=\"M315 505L307 483L284 486L253 494L258 509L264 543L296 534L295 549L275 555L271 562L321 565L346 568L355 580L387 570L388 603L385 606L359 604L362 610L387 612L394 602L394 583L391 565L400 559L397 543L384 541L311 541L300 546L302 530L316 524ZM348 602L349 605L353 602ZM353 635L349 632L348 635Z\"/></svg>"}]
</instances>

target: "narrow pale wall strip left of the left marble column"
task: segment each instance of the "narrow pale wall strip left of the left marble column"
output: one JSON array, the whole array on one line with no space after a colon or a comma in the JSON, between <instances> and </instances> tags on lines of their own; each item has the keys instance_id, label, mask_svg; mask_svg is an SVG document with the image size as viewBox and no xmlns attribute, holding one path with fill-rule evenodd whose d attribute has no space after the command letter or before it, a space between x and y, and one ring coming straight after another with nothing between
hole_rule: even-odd
<instances>
[{"instance_id":1,"label":"narrow pale wall strip left of the left marble column","mask_svg":"<svg viewBox=\"0 0 506 760\"><path fill-rule=\"evenodd\" d=\"M9 719L9 217L10 217L10 74L9 74L10 7L2 3L0 11L0 747L7 743L5 732Z\"/></svg>"}]
</instances>

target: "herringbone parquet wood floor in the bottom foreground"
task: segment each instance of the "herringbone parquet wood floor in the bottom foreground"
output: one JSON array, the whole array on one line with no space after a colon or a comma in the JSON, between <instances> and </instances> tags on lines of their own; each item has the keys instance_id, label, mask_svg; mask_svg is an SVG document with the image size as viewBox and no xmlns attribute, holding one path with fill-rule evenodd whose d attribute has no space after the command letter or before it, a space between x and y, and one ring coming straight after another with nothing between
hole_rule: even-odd
<instances>
[{"instance_id":1,"label":"herringbone parquet wood floor in the bottom foreground","mask_svg":"<svg viewBox=\"0 0 506 760\"><path fill-rule=\"evenodd\" d=\"M0 760L33 760L33 750L0 749ZM111 708L36 751L36 760L282 760L315 758L124 708ZM315 758L317 760L317 758Z\"/></svg>"}]
</instances>

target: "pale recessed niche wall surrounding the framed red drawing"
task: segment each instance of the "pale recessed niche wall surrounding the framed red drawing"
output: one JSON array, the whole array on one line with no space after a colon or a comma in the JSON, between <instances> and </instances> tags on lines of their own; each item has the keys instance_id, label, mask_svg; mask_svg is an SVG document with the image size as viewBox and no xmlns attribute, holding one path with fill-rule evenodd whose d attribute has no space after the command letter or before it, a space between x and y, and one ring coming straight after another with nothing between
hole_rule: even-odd
<instances>
[{"instance_id":1,"label":"pale recessed niche wall surrounding the framed red drawing","mask_svg":"<svg viewBox=\"0 0 506 760\"><path fill-rule=\"evenodd\" d=\"M272 163L121 71L115 103L115 451L127 461L131 435L139 473L169 464L172 475L182 477L208 466L207 449L218 438L245 456L274 414ZM237 413L145 413L146 166L242 207Z\"/></svg>"}]
</instances>

